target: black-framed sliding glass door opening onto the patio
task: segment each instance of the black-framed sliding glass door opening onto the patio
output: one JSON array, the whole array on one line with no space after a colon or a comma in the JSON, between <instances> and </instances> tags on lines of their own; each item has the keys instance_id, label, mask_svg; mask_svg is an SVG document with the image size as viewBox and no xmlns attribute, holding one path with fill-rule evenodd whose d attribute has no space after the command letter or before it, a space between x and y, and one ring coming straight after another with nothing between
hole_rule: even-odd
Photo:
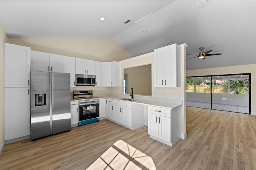
<instances>
[{"instance_id":1,"label":"black-framed sliding glass door opening onto the patio","mask_svg":"<svg viewBox=\"0 0 256 170\"><path fill-rule=\"evenodd\" d=\"M250 73L186 77L186 105L250 113Z\"/></svg>"}]
</instances>

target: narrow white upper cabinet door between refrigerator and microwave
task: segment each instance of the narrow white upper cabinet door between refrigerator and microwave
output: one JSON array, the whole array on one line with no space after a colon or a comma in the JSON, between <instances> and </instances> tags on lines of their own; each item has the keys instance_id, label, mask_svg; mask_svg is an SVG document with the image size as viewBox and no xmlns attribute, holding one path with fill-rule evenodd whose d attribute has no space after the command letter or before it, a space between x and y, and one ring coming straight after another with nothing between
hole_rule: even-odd
<instances>
[{"instance_id":1,"label":"narrow white upper cabinet door between refrigerator and microwave","mask_svg":"<svg viewBox=\"0 0 256 170\"><path fill-rule=\"evenodd\" d=\"M70 73L70 87L76 86L76 58L66 56L66 73Z\"/></svg>"}]
</instances>

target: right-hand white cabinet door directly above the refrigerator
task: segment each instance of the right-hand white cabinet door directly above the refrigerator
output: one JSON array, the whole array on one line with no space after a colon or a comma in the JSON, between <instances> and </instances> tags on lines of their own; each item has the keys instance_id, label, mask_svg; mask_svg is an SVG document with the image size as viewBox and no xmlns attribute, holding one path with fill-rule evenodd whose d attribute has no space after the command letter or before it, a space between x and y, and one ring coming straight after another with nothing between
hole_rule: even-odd
<instances>
[{"instance_id":1,"label":"right-hand white cabinet door directly above the refrigerator","mask_svg":"<svg viewBox=\"0 0 256 170\"><path fill-rule=\"evenodd\" d=\"M66 73L66 56L50 54L50 72Z\"/></svg>"}]
</instances>

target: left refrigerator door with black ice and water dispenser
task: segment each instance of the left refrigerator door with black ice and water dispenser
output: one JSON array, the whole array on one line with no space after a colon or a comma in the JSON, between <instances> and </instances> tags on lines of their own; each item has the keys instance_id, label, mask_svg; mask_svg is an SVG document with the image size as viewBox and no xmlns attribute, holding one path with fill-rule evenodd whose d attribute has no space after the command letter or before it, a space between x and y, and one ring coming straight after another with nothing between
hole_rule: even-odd
<instances>
[{"instance_id":1,"label":"left refrigerator door with black ice and water dispenser","mask_svg":"<svg viewBox=\"0 0 256 170\"><path fill-rule=\"evenodd\" d=\"M50 73L31 71L30 80L31 140L34 140L50 135Z\"/></svg>"}]
</instances>

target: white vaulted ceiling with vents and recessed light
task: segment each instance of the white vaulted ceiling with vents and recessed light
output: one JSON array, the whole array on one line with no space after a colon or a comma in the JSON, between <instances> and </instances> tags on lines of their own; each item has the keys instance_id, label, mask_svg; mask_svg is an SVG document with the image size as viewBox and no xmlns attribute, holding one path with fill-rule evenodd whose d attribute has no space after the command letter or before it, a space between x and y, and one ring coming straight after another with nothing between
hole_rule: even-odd
<instances>
[{"instance_id":1,"label":"white vaulted ceiling with vents and recessed light","mask_svg":"<svg viewBox=\"0 0 256 170\"><path fill-rule=\"evenodd\" d=\"M187 70L256 63L256 0L198 2L0 0L0 19L9 38L110 38L134 56L172 43L186 43L187 54L222 53L186 55Z\"/></svg>"}]
</instances>

